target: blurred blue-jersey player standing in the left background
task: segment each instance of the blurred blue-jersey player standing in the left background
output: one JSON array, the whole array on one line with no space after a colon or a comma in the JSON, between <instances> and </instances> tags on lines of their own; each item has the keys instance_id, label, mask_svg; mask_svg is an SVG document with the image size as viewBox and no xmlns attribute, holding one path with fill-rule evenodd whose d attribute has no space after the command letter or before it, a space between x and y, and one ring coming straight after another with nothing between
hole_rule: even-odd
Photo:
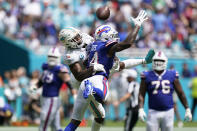
<instances>
[{"instance_id":1,"label":"blurred blue-jersey player standing in the left background","mask_svg":"<svg viewBox=\"0 0 197 131\"><path fill-rule=\"evenodd\" d=\"M42 65L43 74L37 83L38 87L43 88L39 130L47 131L47 128L51 126L53 131L61 131L59 90L63 83L68 85L73 95L76 95L76 90L69 83L70 76L66 66L61 64L59 49L51 48L47 57L47 63ZM33 92L35 89L35 86L31 87Z\"/></svg>"}]
</instances>

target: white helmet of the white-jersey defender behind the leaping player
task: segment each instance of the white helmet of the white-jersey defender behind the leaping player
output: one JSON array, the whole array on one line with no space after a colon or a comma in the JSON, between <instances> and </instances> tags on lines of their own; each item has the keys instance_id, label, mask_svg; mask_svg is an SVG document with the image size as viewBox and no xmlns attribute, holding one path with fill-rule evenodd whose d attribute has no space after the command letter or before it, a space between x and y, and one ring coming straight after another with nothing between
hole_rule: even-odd
<instances>
[{"instance_id":1,"label":"white helmet of the white-jersey defender behind the leaping player","mask_svg":"<svg viewBox=\"0 0 197 131\"><path fill-rule=\"evenodd\" d=\"M59 33L59 40L66 48L81 48L83 46L81 32L74 27L62 29Z\"/></svg>"}]
</instances>

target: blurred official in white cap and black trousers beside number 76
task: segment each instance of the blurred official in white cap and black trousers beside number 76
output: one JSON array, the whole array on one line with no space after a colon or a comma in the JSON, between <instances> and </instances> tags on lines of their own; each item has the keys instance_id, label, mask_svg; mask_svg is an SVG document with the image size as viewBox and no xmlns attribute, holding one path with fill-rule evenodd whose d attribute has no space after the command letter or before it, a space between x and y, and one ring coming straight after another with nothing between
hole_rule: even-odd
<instances>
[{"instance_id":1,"label":"blurred official in white cap and black trousers beside number 76","mask_svg":"<svg viewBox=\"0 0 197 131\"><path fill-rule=\"evenodd\" d=\"M121 102L127 101L124 131L132 131L138 120L138 94L140 86L136 81L137 72L134 69L125 70L125 75L129 83L127 93L113 104L117 107Z\"/></svg>"}]
</instances>

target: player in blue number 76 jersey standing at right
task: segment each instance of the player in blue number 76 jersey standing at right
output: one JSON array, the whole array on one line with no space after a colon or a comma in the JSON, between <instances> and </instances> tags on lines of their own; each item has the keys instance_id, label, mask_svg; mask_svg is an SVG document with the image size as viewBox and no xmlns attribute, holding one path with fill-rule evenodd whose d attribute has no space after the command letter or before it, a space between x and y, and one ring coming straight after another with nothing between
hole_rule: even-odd
<instances>
[{"instance_id":1,"label":"player in blue number 76 jersey standing at right","mask_svg":"<svg viewBox=\"0 0 197 131\"><path fill-rule=\"evenodd\" d=\"M145 121L144 97L148 93L147 131L173 131L175 90L185 108L185 120L191 121L192 114L175 70L166 70L168 59L161 51L155 53L152 62L153 71L141 75L139 93L139 119Z\"/></svg>"}]
</instances>

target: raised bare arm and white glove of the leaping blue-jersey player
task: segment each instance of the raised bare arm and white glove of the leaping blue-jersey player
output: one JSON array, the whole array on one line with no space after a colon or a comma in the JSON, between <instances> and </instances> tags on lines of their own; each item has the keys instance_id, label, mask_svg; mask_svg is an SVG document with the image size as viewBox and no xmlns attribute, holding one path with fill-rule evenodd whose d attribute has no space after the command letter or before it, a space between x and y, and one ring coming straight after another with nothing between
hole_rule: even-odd
<instances>
[{"instance_id":1,"label":"raised bare arm and white glove of the leaping blue-jersey player","mask_svg":"<svg viewBox=\"0 0 197 131\"><path fill-rule=\"evenodd\" d=\"M129 48L134 43L142 23L145 20L147 20L148 17L147 17L147 13L144 10L142 10L138 14L137 18L131 18L131 19L135 23L134 30L129 32L127 38L124 41L113 45L108 51L108 56L113 56L115 52L119 52L119 51Z\"/></svg>"}]
</instances>

